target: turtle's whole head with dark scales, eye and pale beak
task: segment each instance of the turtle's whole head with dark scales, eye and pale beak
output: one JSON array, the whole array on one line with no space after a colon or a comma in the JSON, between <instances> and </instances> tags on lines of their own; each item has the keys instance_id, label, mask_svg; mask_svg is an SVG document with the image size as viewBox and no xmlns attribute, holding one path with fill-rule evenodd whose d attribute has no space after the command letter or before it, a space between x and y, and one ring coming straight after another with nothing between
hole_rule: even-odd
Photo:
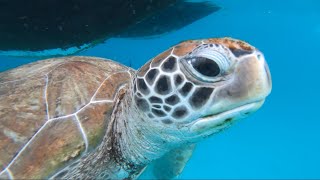
<instances>
[{"instance_id":1,"label":"turtle's whole head with dark scales, eye and pale beak","mask_svg":"<svg viewBox=\"0 0 320 180\"><path fill-rule=\"evenodd\" d=\"M144 65L134 99L150 121L198 139L263 104L271 77L263 54L230 38L182 42Z\"/></svg>"}]
</instances>

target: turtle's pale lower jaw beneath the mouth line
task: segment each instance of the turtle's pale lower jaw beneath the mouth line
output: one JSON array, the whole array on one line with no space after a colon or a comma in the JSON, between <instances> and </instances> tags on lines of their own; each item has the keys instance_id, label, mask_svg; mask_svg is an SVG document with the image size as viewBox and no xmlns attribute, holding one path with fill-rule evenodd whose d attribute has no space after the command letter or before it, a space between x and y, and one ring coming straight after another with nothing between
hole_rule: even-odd
<instances>
[{"instance_id":1,"label":"turtle's pale lower jaw beneath the mouth line","mask_svg":"<svg viewBox=\"0 0 320 180\"><path fill-rule=\"evenodd\" d=\"M190 131L197 134L204 132L212 134L214 132L218 132L228 127L232 122L234 122L234 120L245 118L252 112L258 110L263 103L264 99L247 103L223 112L203 116L191 125Z\"/></svg>"}]
</instances>

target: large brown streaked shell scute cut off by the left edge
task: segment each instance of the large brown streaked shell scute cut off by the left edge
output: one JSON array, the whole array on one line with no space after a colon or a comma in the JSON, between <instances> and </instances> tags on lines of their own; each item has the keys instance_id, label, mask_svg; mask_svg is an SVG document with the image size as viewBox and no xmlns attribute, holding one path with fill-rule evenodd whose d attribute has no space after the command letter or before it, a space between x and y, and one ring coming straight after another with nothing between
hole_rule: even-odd
<instances>
[{"instance_id":1,"label":"large brown streaked shell scute cut off by the left edge","mask_svg":"<svg viewBox=\"0 0 320 180\"><path fill-rule=\"evenodd\" d=\"M42 78L0 86L0 171L46 122L45 84Z\"/></svg>"}]
</instances>

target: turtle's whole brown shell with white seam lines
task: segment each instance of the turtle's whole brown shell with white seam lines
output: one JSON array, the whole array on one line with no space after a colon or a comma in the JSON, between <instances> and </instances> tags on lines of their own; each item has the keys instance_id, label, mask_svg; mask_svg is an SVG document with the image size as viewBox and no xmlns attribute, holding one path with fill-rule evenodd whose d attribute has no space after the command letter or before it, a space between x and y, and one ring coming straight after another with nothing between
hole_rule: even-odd
<instances>
[{"instance_id":1,"label":"turtle's whole brown shell with white seam lines","mask_svg":"<svg viewBox=\"0 0 320 180\"><path fill-rule=\"evenodd\" d=\"M94 150L132 73L80 56L0 73L0 178L48 178Z\"/></svg>"}]
</instances>

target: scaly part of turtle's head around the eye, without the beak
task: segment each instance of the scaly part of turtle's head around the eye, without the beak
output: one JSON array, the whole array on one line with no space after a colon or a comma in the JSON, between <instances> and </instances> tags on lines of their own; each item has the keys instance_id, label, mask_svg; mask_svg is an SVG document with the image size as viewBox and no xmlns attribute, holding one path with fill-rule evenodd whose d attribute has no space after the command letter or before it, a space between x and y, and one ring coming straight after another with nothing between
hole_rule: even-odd
<instances>
[{"instance_id":1,"label":"scaly part of turtle's head around the eye, without the beak","mask_svg":"<svg viewBox=\"0 0 320 180\"><path fill-rule=\"evenodd\" d=\"M229 38L183 42L139 70L135 102L156 122L176 126L190 123L210 114L207 104L217 96L215 89L234 78L233 66L242 56L262 58L252 46ZM230 90L225 92L231 94Z\"/></svg>"}]
</instances>

